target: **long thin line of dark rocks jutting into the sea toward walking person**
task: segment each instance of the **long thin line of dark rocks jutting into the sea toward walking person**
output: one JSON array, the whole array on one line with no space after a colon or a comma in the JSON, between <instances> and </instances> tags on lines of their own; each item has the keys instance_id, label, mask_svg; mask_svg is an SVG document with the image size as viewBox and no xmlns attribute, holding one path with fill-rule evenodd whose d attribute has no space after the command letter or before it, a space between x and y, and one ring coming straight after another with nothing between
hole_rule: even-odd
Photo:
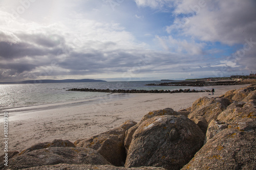
<instances>
[{"instance_id":1,"label":"long thin line of dark rocks jutting into the sea toward walking person","mask_svg":"<svg viewBox=\"0 0 256 170\"><path fill-rule=\"evenodd\" d=\"M210 90L195 90L195 89L179 89L179 90L122 90L122 89L92 89L92 88L71 88L66 91L91 91L91 92L106 92L106 93L179 93L179 92L210 92Z\"/></svg>"}]
</instances>

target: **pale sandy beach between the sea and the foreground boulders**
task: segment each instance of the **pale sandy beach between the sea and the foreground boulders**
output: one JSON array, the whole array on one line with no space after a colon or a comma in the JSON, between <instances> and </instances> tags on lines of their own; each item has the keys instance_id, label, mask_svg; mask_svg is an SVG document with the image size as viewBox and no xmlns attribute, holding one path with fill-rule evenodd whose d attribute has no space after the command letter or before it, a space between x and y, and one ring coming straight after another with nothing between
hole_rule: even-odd
<instances>
[{"instance_id":1,"label":"pale sandy beach between the sea and the foreground boulders","mask_svg":"<svg viewBox=\"0 0 256 170\"><path fill-rule=\"evenodd\" d=\"M214 95L209 95L210 92L109 94L94 102L73 101L5 110L9 115L8 150L20 152L38 142L54 139L74 142L116 128L129 119L139 122L148 111L167 107L176 111L186 109L202 96L217 97L245 86L215 86ZM3 122L0 127L4 127ZM2 155L3 142L0 147Z\"/></svg>"}]
</instances>

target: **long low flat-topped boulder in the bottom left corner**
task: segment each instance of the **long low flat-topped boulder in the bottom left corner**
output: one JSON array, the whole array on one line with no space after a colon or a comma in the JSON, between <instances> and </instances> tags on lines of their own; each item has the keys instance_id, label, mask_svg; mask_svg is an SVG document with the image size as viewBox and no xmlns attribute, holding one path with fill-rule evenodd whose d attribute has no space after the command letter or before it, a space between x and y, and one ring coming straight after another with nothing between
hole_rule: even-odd
<instances>
[{"instance_id":1,"label":"long low flat-topped boulder in the bottom left corner","mask_svg":"<svg viewBox=\"0 0 256 170\"><path fill-rule=\"evenodd\" d=\"M97 151L91 148L52 147L34 150L15 156L8 162L8 167L1 164L0 168L21 169L27 167L67 164L110 164Z\"/></svg>"}]
</instances>

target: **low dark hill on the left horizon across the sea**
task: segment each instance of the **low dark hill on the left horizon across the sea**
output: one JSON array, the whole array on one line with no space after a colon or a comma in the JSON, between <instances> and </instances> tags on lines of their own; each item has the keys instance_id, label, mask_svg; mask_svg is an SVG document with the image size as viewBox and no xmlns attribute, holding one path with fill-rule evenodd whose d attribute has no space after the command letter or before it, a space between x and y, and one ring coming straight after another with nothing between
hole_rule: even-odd
<instances>
[{"instance_id":1,"label":"low dark hill on the left horizon across the sea","mask_svg":"<svg viewBox=\"0 0 256 170\"><path fill-rule=\"evenodd\" d=\"M21 82L0 82L0 84L26 84L26 83L84 83L84 82L106 82L104 80L95 79L65 79L65 80L26 80Z\"/></svg>"}]
</instances>

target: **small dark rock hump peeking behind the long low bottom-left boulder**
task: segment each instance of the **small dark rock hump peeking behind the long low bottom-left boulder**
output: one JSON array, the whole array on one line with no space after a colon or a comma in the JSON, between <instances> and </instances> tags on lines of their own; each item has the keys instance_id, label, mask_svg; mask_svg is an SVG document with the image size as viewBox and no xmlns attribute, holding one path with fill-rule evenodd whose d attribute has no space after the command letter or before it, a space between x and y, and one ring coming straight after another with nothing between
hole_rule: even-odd
<instances>
[{"instance_id":1,"label":"small dark rock hump peeking behind the long low bottom-left boulder","mask_svg":"<svg viewBox=\"0 0 256 170\"><path fill-rule=\"evenodd\" d=\"M18 155L22 155L34 150L40 150L40 149L51 148L51 147L75 147L75 145L69 140L55 139L52 142L37 143L32 147L26 150L23 150Z\"/></svg>"}]
</instances>

